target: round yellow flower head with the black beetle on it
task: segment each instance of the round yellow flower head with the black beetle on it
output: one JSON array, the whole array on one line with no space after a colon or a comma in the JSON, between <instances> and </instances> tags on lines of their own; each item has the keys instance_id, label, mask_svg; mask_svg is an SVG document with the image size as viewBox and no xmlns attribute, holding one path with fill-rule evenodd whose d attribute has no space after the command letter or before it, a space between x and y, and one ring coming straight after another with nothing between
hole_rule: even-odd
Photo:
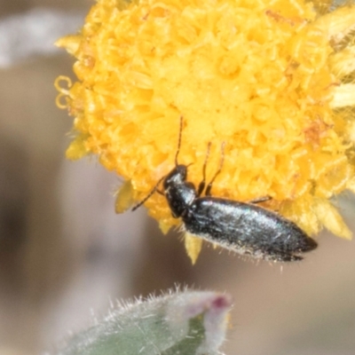
<instances>
[{"instance_id":1,"label":"round yellow flower head with the black beetle on it","mask_svg":"<svg viewBox=\"0 0 355 355\"><path fill-rule=\"evenodd\" d=\"M329 198L355 192L354 30L353 2L99 0L80 34L57 43L78 78L56 82L75 116L67 157L97 154L122 176L122 211L173 169L182 116L178 162L193 163L193 184L209 142L208 180L225 142L213 195L268 195L264 207L306 233L324 225L349 239ZM146 208L163 231L177 225L161 194ZM201 248L186 247L193 258Z\"/></svg>"}]
</instances>

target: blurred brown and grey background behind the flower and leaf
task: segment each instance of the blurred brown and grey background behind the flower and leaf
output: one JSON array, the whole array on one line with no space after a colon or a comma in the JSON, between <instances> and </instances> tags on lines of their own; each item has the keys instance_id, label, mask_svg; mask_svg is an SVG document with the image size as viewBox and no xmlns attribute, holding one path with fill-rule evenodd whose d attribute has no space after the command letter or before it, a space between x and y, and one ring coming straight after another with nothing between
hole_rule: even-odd
<instances>
[{"instance_id":1,"label":"blurred brown and grey background behind the flower and leaf","mask_svg":"<svg viewBox=\"0 0 355 355\"><path fill-rule=\"evenodd\" d=\"M72 118L53 81L73 59L50 43L92 2L0 0L0 355L51 350L110 300L176 283L233 295L227 355L354 354L355 241L322 233L282 270L209 247L192 266L145 209L114 214L119 177L65 160ZM351 194L337 202L354 229Z\"/></svg>"}]
</instances>

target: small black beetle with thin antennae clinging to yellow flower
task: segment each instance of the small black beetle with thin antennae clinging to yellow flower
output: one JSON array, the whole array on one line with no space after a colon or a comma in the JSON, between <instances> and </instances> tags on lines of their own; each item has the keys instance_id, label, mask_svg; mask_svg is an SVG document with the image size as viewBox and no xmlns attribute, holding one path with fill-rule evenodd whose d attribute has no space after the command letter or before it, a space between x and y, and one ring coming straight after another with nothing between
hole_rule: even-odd
<instances>
[{"instance_id":1,"label":"small black beetle with thin antennae clinging to yellow flower","mask_svg":"<svg viewBox=\"0 0 355 355\"><path fill-rule=\"evenodd\" d=\"M212 184L222 170L224 145L219 169L207 185L205 195L201 196L206 185L209 147L203 165L203 179L196 189L193 183L187 180L189 165L177 162L182 126L181 117L175 168L162 177L152 192L133 210L138 209L154 192L162 193L169 204L172 217L182 219L186 233L238 254L272 262L300 261L303 259L300 254L317 248L317 242L294 222L258 205L259 202L270 200L270 197L241 202L211 194ZM158 190L161 183L162 192Z\"/></svg>"}]
</instances>

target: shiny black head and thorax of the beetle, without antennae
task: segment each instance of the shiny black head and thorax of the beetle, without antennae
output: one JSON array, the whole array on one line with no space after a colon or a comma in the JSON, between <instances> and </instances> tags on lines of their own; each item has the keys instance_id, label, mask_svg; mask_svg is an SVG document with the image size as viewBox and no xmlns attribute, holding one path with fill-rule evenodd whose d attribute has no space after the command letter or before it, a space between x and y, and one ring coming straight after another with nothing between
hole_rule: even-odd
<instances>
[{"instance_id":1,"label":"shiny black head and thorax of the beetle, without antennae","mask_svg":"<svg viewBox=\"0 0 355 355\"><path fill-rule=\"evenodd\" d=\"M186 209L197 197L195 186L193 183L187 182L186 177L187 167L177 165L164 179L165 197L169 203L171 214L175 218L183 216Z\"/></svg>"}]
</instances>

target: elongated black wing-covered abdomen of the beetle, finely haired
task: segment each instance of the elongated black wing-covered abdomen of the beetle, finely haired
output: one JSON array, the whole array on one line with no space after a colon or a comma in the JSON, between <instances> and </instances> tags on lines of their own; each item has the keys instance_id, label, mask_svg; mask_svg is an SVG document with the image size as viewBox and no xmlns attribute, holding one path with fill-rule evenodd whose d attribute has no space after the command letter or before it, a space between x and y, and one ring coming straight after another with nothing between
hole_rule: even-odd
<instances>
[{"instance_id":1,"label":"elongated black wing-covered abdomen of the beetle, finely haired","mask_svg":"<svg viewBox=\"0 0 355 355\"><path fill-rule=\"evenodd\" d=\"M317 248L295 223L249 203L198 198L183 220L188 233L266 260L301 260L296 254Z\"/></svg>"}]
</instances>

